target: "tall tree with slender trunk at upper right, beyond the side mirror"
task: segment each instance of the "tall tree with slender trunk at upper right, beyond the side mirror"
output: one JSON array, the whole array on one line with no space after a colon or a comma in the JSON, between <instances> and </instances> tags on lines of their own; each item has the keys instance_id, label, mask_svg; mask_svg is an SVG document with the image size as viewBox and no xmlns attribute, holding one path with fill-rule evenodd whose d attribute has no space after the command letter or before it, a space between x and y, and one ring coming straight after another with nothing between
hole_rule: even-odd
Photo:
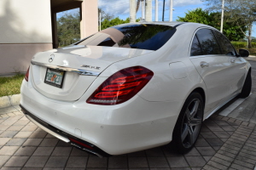
<instances>
[{"instance_id":1,"label":"tall tree with slender trunk at upper right, beyond the side mirror","mask_svg":"<svg viewBox=\"0 0 256 170\"><path fill-rule=\"evenodd\" d=\"M204 0L207 3L207 10L219 12L221 10L222 0ZM253 22L256 22L256 1L255 0L225 0L224 4L225 18L231 17L232 20L226 22L239 26L241 32L247 37L248 48L252 48L252 28ZM220 19L219 19L220 20ZM247 27L247 32L242 27Z\"/></svg>"}]
</instances>

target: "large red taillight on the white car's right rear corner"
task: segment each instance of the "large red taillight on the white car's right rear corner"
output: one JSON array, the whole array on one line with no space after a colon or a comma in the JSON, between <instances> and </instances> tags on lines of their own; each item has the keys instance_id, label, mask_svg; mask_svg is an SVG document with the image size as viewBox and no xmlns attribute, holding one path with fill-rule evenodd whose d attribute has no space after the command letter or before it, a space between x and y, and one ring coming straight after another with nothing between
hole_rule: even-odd
<instances>
[{"instance_id":1,"label":"large red taillight on the white car's right rear corner","mask_svg":"<svg viewBox=\"0 0 256 170\"><path fill-rule=\"evenodd\" d=\"M134 66L114 73L91 94L87 103L117 105L137 94L153 77L154 73L143 66Z\"/></svg>"}]
</instances>

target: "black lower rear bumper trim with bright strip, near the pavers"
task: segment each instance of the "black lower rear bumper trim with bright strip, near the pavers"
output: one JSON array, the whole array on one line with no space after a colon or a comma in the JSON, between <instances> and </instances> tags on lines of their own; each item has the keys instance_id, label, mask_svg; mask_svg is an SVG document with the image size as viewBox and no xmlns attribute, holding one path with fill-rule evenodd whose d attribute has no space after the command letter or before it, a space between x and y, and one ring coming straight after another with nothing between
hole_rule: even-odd
<instances>
[{"instance_id":1,"label":"black lower rear bumper trim with bright strip, near the pavers","mask_svg":"<svg viewBox=\"0 0 256 170\"><path fill-rule=\"evenodd\" d=\"M97 148L95 145L90 144L86 141L83 141L81 139L78 139L76 137L74 137L73 135L70 135L68 133L62 132L60 129L57 129L53 126L50 126L48 123L40 120L37 116L32 115L32 113L30 113L29 111L26 111L26 109L20 105L21 107L21 111L26 115L26 117L33 122L35 125L37 125L38 127L42 128L44 131L46 131L47 133L50 133L51 135L55 136L58 139L61 139L62 141L72 144L75 147L79 148L79 150L84 150L89 152L90 154L94 154L96 156L99 157L103 157L103 156L110 156L108 153L104 152L103 150ZM89 147L84 147L83 145L79 144L79 143L75 143L73 141L71 141L71 139L74 139L73 141L79 141L80 143L83 143L84 145L88 145Z\"/></svg>"}]
</instances>

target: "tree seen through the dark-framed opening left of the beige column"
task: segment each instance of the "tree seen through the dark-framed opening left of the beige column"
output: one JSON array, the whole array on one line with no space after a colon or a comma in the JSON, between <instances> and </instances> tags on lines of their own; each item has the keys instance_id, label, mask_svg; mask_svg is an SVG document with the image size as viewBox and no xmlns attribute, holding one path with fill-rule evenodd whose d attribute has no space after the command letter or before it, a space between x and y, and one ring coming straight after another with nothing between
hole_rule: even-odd
<instances>
[{"instance_id":1,"label":"tree seen through the dark-framed opening left of the beige column","mask_svg":"<svg viewBox=\"0 0 256 170\"><path fill-rule=\"evenodd\" d=\"M57 19L57 32L59 43L69 45L80 39L79 14L64 14Z\"/></svg>"}]
</instances>

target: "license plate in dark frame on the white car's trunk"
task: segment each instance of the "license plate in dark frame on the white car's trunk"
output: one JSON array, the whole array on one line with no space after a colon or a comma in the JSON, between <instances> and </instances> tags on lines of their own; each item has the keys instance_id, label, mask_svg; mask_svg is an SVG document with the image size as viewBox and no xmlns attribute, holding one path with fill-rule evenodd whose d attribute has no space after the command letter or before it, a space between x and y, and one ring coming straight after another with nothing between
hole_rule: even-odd
<instances>
[{"instance_id":1,"label":"license plate in dark frame on the white car's trunk","mask_svg":"<svg viewBox=\"0 0 256 170\"><path fill-rule=\"evenodd\" d=\"M62 88L65 71L47 68L44 83L57 88Z\"/></svg>"}]
</instances>

